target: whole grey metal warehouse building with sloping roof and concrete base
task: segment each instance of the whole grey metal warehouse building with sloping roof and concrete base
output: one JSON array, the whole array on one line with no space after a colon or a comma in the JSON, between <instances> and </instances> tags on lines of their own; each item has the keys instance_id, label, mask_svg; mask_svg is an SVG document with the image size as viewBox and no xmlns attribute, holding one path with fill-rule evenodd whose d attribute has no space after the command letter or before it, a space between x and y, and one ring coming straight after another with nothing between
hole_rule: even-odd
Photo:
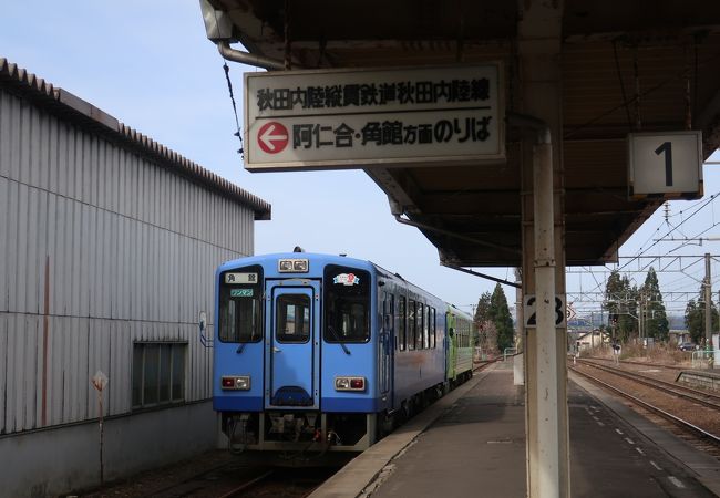
<instances>
[{"instance_id":1,"label":"whole grey metal warehouse building with sloping roof and concrete base","mask_svg":"<svg viewBox=\"0 0 720 498\"><path fill-rule=\"evenodd\" d=\"M213 276L270 206L0 59L0 495L216 445ZM210 330L212 331L212 330Z\"/></svg>"}]
</instances>

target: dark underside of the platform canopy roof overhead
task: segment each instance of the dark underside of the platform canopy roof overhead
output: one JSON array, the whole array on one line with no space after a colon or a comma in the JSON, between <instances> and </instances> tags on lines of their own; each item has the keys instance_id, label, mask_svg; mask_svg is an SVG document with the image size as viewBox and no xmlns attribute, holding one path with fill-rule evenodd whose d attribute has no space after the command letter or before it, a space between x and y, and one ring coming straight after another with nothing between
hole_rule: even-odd
<instances>
[{"instance_id":1,"label":"dark underside of the platform canopy roof overhead","mask_svg":"<svg viewBox=\"0 0 720 498\"><path fill-rule=\"evenodd\" d=\"M208 0L233 41L292 69L503 64L505 111L522 113L520 25L536 0ZM720 8L702 0L557 1L562 86L564 237L567 264L613 260L664 201L629 200L627 134L702 132L720 143ZM287 9L287 10L286 10ZM525 25L523 32L533 32ZM243 50L240 45L234 45ZM422 229L441 262L520 266L521 139L507 125L502 163L366 169ZM470 239L500 247L475 243Z\"/></svg>"}]
</instances>

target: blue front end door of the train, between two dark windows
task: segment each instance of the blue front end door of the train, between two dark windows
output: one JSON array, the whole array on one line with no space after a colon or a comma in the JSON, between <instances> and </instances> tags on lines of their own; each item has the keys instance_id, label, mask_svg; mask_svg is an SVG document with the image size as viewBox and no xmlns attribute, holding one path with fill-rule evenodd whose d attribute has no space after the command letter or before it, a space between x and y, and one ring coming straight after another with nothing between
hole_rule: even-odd
<instances>
[{"instance_id":1,"label":"blue front end door of the train, between two dark windows","mask_svg":"<svg viewBox=\"0 0 720 498\"><path fill-rule=\"evenodd\" d=\"M319 407L320 284L268 281L266 408Z\"/></svg>"}]
</instances>

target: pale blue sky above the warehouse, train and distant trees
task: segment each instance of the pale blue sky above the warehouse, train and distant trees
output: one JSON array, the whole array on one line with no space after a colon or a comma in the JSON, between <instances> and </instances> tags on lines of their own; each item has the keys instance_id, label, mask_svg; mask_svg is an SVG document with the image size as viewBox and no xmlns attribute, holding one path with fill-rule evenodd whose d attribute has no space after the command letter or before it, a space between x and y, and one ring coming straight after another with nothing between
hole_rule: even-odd
<instances>
[{"instance_id":1,"label":"pale blue sky above the warehouse, train and distant trees","mask_svg":"<svg viewBox=\"0 0 720 498\"><path fill-rule=\"evenodd\" d=\"M223 60L205 37L196 0L72 0L4 2L0 58L7 58L102 108L126 125L195 160L272 205L272 220L256 222L256 253L292 250L340 253L369 259L399 272L438 297L470 311L494 283L440 267L435 248L414 228L390 215L380 188L361 170L261 173L243 169L235 117ZM230 64L236 101L241 74L251 68ZM238 110L243 123L241 108ZM720 157L712 159L718 160ZM706 166L706 194L718 191L720 165ZM621 248L632 256L685 219L698 201L671 204L666 225L661 210ZM673 235L691 237L720 222L717 203L685 222ZM683 211L683 214L680 214ZM720 235L720 227L703 236ZM649 241L648 241L649 240ZM720 253L720 242L672 253ZM664 242L647 253L669 252ZM697 268L696 268L697 270ZM513 279L512 269L479 271ZM695 271L695 270L693 270ZM720 264L713 273L720 272ZM604 277L568 274L568 291L597 288ZM645 277L637 277L640 281ZM661 286L699 289L683 276L660 276ZM599 290L604 290L601 286ZM505 287L511 303L514 289Z\"/></svg>"}]
</instances>

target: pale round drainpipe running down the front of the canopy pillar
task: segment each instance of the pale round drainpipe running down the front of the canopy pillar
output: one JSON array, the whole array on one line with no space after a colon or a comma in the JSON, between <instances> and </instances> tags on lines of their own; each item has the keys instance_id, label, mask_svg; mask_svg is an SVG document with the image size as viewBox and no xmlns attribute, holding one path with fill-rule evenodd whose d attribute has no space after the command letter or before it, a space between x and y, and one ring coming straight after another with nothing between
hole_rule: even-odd
<instances>
[{"instance_id":1,"label":"pale round drainpipe running down the front of the canopy pillar","mask_svg":"<svg viewBox=\"0 0 720 498\"><path fill-rule=\"evenodd\" d=\"M544 135L544 136L543 136ZM535 208L535 295L537 313L537 461L541 497L560 496L557 341L555 330L555 217L553 206L553 152L549 129L538 137L533 152Z\"/></svg>"}]
</instances>

